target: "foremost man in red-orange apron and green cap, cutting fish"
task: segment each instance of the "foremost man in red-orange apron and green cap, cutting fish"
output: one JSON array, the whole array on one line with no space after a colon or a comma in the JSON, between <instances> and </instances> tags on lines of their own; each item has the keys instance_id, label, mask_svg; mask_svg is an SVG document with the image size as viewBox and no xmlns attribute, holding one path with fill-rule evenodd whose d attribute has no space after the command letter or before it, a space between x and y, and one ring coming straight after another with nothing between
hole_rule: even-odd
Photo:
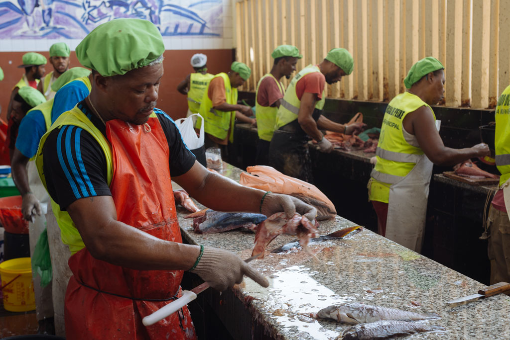
<instances>
[{"instance_id":1,"label":"foremost man in red-orange apron and green cap, cutting fish","mask_svg":"<svg viewBox=\"0 0 510 340\"><path fill-rule=\"evenodd\" d=\"M155 108L164 50L149 21L97 26L76 49L93 70L90 95L41 138L36 164L72 253L70 339L196 338L187 307L152 326L141 322L180 297L184 270L218 290L243 275L268 286L230 251L182 244L171 179L215 210L316 215L293 197L240 186L195 160L174 122Z\"/></svg>"}]
</instances>

